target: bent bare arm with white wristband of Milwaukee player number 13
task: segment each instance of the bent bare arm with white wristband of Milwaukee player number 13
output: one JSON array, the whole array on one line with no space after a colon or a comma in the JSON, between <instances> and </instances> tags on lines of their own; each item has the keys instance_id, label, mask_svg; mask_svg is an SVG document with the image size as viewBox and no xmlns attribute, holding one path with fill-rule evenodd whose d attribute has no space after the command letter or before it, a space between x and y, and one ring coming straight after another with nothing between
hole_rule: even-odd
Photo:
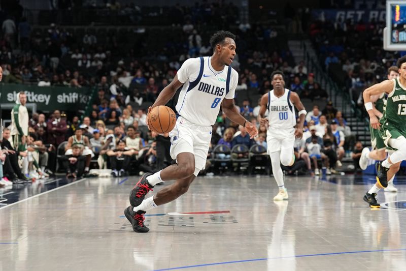
<instances>
[{"instance_id":1,"label":"bent bare arm with white wristband of Milwaukee player number 13","mask_svg":"<svg viewBox=\"0 0 406 271\"><path fill-rule=\"evenodd\" d=\"M374 106L372 99L374 95L380 95L382 93L389 94L393 91L394 82L392 80L385 80L381 83L370 86L364 90L362 97L364 98L365 109L369 115L369 123L372 128L379 129L380 124L378 118L374 112Z\"/></svg>"}]
</instances>

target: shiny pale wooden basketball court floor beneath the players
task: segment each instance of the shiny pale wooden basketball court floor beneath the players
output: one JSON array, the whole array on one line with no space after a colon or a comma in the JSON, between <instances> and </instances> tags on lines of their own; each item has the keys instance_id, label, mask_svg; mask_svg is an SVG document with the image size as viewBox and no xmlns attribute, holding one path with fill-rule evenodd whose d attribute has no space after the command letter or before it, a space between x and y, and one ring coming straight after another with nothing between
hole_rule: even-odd
<instances>
[{"instance_id":1,"label":"shiny pale wooden basketball court floor beneath the players","mask_svg":"<svg viewBox=\"0 0 406 271\"><path fill-rule=\"evenodd\" d=\"M5 195L19 201L0 206L0 270L406 270L404 177L380 209L362 201L371 176L288 176L283 202L270 177L198 177L147 213L149 233L123 214L137 179Z\"/></svg>"}]
</instances>

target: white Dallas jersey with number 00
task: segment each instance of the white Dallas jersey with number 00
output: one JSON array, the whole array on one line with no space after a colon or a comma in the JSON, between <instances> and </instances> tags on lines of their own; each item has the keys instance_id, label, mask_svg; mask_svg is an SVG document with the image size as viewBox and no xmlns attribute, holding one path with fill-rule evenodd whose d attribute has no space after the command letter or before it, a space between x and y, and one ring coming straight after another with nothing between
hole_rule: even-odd
<instances>
[{"instance_id":1,"label":"white Dallas jersey with number 00","mask_svg":"<svg viewBox=\"0 0 406 271\"><path fill-rule=\"evenodd\" d=\"M279 130L290 130L296 126L296 115L290 101L290 90L285 88L281 97L274 95L274 89L268 93L269 132L278 133Z\"/></svg>"}]
</instances>

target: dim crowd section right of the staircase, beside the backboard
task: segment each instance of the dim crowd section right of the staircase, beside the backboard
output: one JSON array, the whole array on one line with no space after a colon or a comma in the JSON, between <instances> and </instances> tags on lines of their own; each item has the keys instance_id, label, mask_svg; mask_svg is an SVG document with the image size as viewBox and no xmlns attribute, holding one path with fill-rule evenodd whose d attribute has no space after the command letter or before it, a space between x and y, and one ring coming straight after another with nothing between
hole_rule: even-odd
<instances>
[{"instance_id":1,"label":"dim crowd section right of the staircase, beside the backboard","mask_svg":"<svg viewBox=\"0 0 406 271\"><path fill-rule=\"evenodd\" d=\"M377 9L385 9L381 1L375 4ZM387 70L396 65L399 56L398 52L382 49L385 24L375 19L364 22L313 18L309 27L320 65L360 109L362 91L385 80Z\"/></svg>"}]
</instances>

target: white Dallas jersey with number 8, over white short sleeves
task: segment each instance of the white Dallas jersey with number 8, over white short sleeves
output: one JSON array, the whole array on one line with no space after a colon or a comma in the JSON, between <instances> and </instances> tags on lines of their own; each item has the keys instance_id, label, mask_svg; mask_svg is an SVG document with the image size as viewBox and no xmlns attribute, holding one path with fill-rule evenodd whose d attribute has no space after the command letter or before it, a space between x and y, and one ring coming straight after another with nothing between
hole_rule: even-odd
<instances>
[{"instance_id":1,"label":"white Dallas jersey with number 8, over white short sleeves","mask_svg":"<svg viewBox=\"0 0 406 271\"><path fill-rule=\"evenodd\" d=\"M189 122L210 126L216 122L224 98L234 99L238 73L229 66L215 71L211 57L189 58L178 71L183 83L176 110Z\"/></svg>"}]
</instances>

